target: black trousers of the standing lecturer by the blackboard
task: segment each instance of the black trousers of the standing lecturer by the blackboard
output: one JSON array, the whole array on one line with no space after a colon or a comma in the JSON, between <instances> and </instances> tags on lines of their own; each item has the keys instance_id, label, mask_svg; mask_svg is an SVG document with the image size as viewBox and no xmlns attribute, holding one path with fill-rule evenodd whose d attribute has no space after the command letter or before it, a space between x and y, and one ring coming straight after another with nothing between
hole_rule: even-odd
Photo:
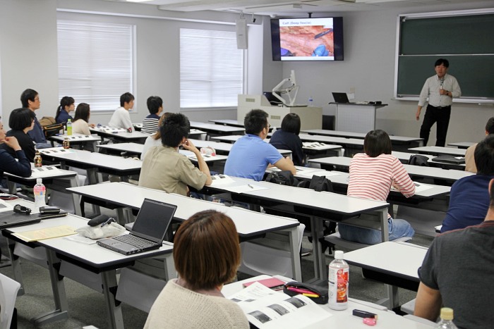
<instances>
[{"instance_id":1,"label":"black trousers of the standing lecturer by the blackboard","mask_svg":"<svg viewBox=\"0 0 494 329\"><path fill-rule=\"evenodd\" d=\"M438 123L436 147L444 147L446 144L447 126L450 125L451 106L435 107L428 105L426 116L423 118L422 127L420 128L420 137L423 138L423 146L427 146L429 140L430 128L434 123Z\"/></svg>"}]
</instances>

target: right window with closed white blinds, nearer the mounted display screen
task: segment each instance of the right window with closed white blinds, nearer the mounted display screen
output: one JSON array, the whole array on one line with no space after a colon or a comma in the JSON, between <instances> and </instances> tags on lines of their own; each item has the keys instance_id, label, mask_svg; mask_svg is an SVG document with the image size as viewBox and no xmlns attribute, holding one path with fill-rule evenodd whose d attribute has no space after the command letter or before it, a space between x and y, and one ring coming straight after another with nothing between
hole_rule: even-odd
<instances>
[{"instance_id":1,"label":"right window with closed white blinds, nearer the mounted display screen","mask_svg":"<svg viewBox=\"0 0 494 329\"><path fill-rule=\"evenodd\" d=\"M236 33L180 29L180 107L236 106L243 94L243 51Z\"/></svg>"}]
</instances>

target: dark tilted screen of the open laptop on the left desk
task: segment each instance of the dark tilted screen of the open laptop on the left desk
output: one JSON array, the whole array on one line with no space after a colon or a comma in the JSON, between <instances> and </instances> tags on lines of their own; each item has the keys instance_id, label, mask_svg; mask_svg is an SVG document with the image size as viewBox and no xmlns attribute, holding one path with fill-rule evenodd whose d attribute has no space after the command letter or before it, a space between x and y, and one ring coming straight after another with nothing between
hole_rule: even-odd
<instances>
[{"instance_id":1,"label":"dark tilted screen of the open laptop on the left desk","mask_svg":"<svg viewBox=\"0 0 494 329\"><path fill-rule=\"evenodd\" d=\"M176 211L176 206L164 202L144 199L143 205L135 218L132 232L147 235L155 240L162 240L164 233Z\"/></svg>"}]
</instances>

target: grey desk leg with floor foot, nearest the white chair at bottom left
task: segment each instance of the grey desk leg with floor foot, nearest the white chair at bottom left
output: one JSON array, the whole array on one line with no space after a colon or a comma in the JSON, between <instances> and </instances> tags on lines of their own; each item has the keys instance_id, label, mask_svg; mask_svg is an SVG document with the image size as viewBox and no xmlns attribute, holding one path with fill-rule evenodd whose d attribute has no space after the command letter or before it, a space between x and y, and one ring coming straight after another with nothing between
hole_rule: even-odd
<instances>
[{"instance_id":1,"label":"grey desk leg with floor foot, nearest the white chair at bottom left","mask_svg":"<svg viewBox=\"0 0 494 329\"><path fill-rule=\"evenodd\" d=\"M49 249L47 249L47 258L49 277L52 281L53 298L55 299L55 310L32 318L30 321L35 325L44 325L68 318L64 277L59 274L60 261L56 260L55 252Z\"/></svg>"}]
</instances>

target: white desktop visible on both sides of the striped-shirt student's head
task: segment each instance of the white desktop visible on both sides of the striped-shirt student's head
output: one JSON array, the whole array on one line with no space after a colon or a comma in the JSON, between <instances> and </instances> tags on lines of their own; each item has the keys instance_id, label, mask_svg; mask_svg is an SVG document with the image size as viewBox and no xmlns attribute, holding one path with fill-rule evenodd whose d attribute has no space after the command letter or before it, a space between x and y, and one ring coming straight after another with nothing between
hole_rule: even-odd
<instances>
[{"instance_id":1,"label":"white desktop visible on both sides of the striped-shirt student's head","mask_svg":"<svg viewBox=\"0 0 494 329\"><path fill-rule=\"evenodd\" d=\"M351 162L351 158L345 156L332 156L329 158L319 158L308 160L311 163L319 163L321 167L336 166L337 168L344 168L348 170ZM411 166L403 165L406 172L412 177L426 177L426 178L437 178L440 180L446 180L447 182L453 183L457 180L468 177L470 175L475 175L469 171L460 170L445 170L442 168L433 167L422 167L422 166Z\"/></svg>"}]
</instances>

